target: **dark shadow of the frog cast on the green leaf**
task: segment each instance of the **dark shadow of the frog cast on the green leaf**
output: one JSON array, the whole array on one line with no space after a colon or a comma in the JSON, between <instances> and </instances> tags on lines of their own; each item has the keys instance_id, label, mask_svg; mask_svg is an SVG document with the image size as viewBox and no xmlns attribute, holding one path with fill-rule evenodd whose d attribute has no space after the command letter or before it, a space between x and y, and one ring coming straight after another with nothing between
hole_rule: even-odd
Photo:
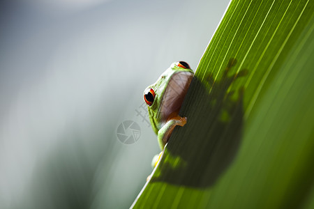
<instances>
[{"instance_id":1,"label":"dark shadow of the frog cast on the green leaf","mask_svg":"<svg viewBox=\"0 0 314 209\"><path fill-rule=\"evenodd\" d=\"M247 74L247 70L240 70L228 75L236 63L230 59L222 77L214 80L209 74L205 84L193 77L180 110L188 123L172 132L151 182L210 187L231 164L241 141L244 88L228 90ZM199 108L200 102L207 107Z\"/></svg>"}]
</instances>

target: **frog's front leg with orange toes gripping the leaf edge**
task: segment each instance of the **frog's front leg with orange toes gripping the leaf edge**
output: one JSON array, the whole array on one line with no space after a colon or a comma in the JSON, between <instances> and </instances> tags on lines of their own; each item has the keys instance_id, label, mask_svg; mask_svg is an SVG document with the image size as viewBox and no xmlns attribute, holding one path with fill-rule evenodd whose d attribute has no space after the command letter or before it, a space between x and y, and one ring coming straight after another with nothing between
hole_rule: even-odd
<instances>
[{"instance_id":1,"label":"frog's front leg with orange toes gripping the leaf edge","mask_svg":"<svg viewBox=\"0 0 314 209\"><path fill-rule=\"evenodd\" d=\"M158 143L161 150L163 150L165 144L167 144L174 127L176 127L176 125L184 126L186 125L186 121L186 117L174 116L173 118L170 118L170 120L168 120L167 123L163 125L163 127L160 128L158 131Z\"/></svg>"}]
</instances>

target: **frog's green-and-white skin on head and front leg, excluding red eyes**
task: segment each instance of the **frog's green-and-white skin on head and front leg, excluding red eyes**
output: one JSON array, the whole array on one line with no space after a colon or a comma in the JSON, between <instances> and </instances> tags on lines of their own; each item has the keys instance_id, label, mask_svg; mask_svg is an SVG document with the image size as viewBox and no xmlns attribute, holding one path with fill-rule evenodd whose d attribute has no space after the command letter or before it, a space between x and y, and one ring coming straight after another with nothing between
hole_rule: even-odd
<instances>
[{"instance_id":1,"label":"frog's green-and-white skin on head and front leg, excluding red eyes","mask_svg":"<svg viewBox=\"0 0 314 209\"><path fill-rule=\"evenodd\" d=\"M167 140L176 125L184 126L186 117L179 116L179 110L184 100L188 86L193 78L193 70L181 68L179 62L172 63L156 83L146 88L155 92L153 104L148 106L151 127L158 135L160 149L163 150ZM144 92L145 92L144 91Z\"/></svg>"}]
</instances>

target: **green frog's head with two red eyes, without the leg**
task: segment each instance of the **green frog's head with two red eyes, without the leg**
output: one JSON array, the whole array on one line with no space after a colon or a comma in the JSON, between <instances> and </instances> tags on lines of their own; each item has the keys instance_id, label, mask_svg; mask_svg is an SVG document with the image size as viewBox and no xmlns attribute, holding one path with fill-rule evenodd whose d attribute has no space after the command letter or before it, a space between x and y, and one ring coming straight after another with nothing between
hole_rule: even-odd
<instances>
[{"instance_id":1,"label":"green frog's head with two red eyes, without the leg","mask_svg":"<svg viewBox=\"0 0 314 209\"><path fill-rule=\"evenodd\" d=\"M178 114L188 86L193 77L193 70L184 61L172 63L158 80L144 91L149 119L154 132L158 133L169 118Z\"/></svg>"}]
</instances>

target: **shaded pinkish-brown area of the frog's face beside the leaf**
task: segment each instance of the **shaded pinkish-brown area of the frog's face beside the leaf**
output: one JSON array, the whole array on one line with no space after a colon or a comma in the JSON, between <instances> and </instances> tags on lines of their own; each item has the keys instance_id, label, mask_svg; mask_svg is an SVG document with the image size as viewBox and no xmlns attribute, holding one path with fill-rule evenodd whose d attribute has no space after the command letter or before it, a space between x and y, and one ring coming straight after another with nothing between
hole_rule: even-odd
<instances>
[{"instance_id":1,"label":"shaded pinkish-brown area of the frog's face beside the leaf","mask_svg":"<svg viewBox=\"0 0 314 209\"><path fill-rule=\"evenodd\" d=\"M192 78L193 72L188 71L180 71L172 75L159 107L161 121L166 122L173 113L179 112Z\"/></svg>"}]
</instances>

